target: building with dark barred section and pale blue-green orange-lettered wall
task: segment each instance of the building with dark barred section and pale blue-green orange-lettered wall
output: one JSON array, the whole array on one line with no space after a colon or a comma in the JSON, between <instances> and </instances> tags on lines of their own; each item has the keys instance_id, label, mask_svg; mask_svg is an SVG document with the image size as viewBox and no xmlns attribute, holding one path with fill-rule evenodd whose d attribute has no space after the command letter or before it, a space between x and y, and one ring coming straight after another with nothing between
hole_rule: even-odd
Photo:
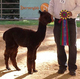
<instances>
[{"instance_id":1,"label":"building with dark barred section and pale blue-green orange-lettered wall","mask_svg":"<svg viewBox=\"0 0 80 79\"><path fill-rule=\"evenodd\" d=\"M0 0L0 20L39 18L38 11L48 10L50 0ZM77 20L80 20L80 14Z\"/></svg>"}]
</instances>

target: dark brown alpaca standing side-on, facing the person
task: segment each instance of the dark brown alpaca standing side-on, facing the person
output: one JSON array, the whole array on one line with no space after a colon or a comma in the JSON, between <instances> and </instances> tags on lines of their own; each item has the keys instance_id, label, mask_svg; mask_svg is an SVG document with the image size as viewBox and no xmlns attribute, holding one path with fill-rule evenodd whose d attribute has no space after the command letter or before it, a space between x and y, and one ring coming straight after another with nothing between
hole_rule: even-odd
<instances>
[{"instance_id":1,"label":"dark brown alpaca standing side-on, facing the person","mask_svg":"<svg viewBox=\"0 0 80 79\"><path fill-rule=\"evenodd\" d=\"M46 25L52 21L51 15L44 11L40 13L38 30L32 31L28 29L22 29L19 27L11 28L7 30L3 39L6 43L6 49L4 53L6 68L10 70L8 65L9 58L12 61L13 66L16 70L20 70L17 66L16 56L18 46L23 46L28 48L27 52L27 68L28 73L36 72L35 69L35 60L36 60L36 51L40 46L41 42L45 38Z\"/></svg>"}]
</instances>

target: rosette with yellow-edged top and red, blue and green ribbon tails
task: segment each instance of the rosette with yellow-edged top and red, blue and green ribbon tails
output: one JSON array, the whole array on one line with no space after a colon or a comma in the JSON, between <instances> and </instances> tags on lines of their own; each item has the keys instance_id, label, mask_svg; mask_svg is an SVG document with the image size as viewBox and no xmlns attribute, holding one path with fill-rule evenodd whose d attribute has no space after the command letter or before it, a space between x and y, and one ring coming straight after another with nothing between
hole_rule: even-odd
<instances>
[{"instance_id":1,"label":"rosette with yellow-edged top and red, blue and green ribbon tails","mask_svg":"<svg viewBox=\"0 0 80 79\"><path fill-rule=\"evenodd\" d=\"M62 21L61 24L61 36L60 36L60 45L70 45L70 35L69 35L69 26L67 18L69 17L69 12L67 10L60 11L59 23Z\"/></svg>"}]
</instances>

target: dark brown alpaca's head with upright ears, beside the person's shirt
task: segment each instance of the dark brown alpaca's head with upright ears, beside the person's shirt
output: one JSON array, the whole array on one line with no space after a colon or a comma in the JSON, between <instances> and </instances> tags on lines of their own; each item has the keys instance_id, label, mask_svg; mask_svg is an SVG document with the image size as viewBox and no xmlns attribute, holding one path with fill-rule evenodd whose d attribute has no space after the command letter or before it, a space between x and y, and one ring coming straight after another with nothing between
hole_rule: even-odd
<instances>
[{"instance_id":1,"label":"dark brown alpaca's head with upright ears, beside the person's shirt","mask_svg":"<svg viewBox=\"0 0 80 79\"><path fill-rule=\"evenodd\" d=\"M48 23L52 22L53 21L53 18L51 16L51 14L47 11L40 11L39 10L39 14L40 14L40 18L39 18L39 21L44 24L44 25L47 25Z\"/></svg>"}]
</instances>

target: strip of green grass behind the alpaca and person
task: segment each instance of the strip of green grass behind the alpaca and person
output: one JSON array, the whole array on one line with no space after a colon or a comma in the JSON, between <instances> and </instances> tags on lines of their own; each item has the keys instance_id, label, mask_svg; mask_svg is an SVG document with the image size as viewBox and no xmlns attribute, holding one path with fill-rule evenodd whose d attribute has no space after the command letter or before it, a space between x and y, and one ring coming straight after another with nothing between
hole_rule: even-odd
<instances>
[{"instance_id":1,"label":"strip of green grass behind the alpaca and person","mask_svg":"<svg viewBox=\"0 0 80 79\"><path fill-rule=\"evenodd\" d=\"M0 25L38 25L38 20L23 20L23 21L0 21ZM54 26L54 22L48 24L48 26ZM80 22L77 22L77 27L80 27Z\"/></svg>"}]
</instances>

